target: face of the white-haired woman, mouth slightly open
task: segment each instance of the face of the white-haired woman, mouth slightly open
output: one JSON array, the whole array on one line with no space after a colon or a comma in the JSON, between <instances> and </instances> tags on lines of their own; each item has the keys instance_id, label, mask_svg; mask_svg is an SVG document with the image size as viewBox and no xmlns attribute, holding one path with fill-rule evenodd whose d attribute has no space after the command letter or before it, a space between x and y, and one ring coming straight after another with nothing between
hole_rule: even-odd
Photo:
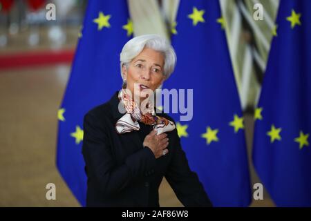
<instances>
[{"instance_id":1,"label":"face of the white-haired woman, mouth slightly open","mask_svg":"<svg viewBox=\"0 0 311 221\"><path fill-rule=\"evenodd\" d=\"M126 88L131 90L131 95L140 98L140 102L147 96L149 89L154 91L164 81L164 56L161 52L151 48L144 48L136 56L129 67L122 67ZM135 89L135 90L134 90Z\"/></svg>"}]
</instances>

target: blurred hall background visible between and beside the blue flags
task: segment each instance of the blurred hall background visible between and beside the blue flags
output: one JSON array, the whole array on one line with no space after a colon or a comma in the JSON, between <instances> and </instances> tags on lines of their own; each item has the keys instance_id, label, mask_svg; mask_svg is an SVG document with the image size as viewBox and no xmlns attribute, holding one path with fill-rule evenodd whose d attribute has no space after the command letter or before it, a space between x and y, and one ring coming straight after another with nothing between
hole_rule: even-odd
<instances>
[{"instance_id":1,"label":"blurred hall background visible between and beside the blue flags","mask_svg":"<svg viewBox=\"0 0 311 221\"><path fill-rule=\"evenodd\" d=\"M46 19L54 3L56 20ZM178 0L129 0L134 35L157 33L176 19ZM263 20L253 19L261 3ZM55 166L57 111L81 37L87 1L0 0L0 206L79 206ZM270 50L278 0L220 1L245 117L249 159L254 107ZM253 166L252 183L260 182ZM46 184L57 200L46 200ZM160 206L182 206L164 180ZM267 191L251 206L274 206Z\"/></svg>"}]
</instances>

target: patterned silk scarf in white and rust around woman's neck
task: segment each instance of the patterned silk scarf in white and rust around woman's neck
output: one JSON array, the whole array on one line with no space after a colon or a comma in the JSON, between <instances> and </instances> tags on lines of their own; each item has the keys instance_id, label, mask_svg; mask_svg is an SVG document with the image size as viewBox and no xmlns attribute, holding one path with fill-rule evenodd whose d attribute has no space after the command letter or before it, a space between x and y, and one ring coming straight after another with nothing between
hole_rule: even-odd
<instances>
[{"instance_id":1,"label":"patterned silk scarf in white and rust around woman's neck","mask_svg":"<svg viewBox=\"0 0 311 221\"><path fill-rule=\"evenodd\" d=\"M157 135L173 131L175 124L165 117L157 116L153 103L148 102L146 113L142 113L138 105L131 99L124 89L120 90L119 93L120 102L122 102L126 114L123 115L115 124L117 133L128 133L131 131L139 131L140 125L138 122L142 122L147 125L153 125L153 129L157 130Z\"/></svg>"}]
</instances>

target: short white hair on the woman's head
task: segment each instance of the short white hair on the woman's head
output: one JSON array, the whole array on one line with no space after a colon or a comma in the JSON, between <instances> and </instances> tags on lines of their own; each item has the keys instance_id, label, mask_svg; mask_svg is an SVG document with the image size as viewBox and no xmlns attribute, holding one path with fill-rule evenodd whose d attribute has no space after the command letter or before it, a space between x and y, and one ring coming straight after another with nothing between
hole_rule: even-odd
<instances>
[{"instance_id":1,"label":"short white hair on the woman's head","mask_svg":"<svg viewBox=\"0 0 311 221\"><path fill-rule=\"evenodd\" d=\"M163 75L167 79L173 73L176 65L176 53L169 42L160 35L140 35L126 42L120 53L120 68L122 75L122 66L128 68L129 63L134 57L140 54L144 48L151 48L161 52L164 56Z\"/></svg>"}]
</instances>

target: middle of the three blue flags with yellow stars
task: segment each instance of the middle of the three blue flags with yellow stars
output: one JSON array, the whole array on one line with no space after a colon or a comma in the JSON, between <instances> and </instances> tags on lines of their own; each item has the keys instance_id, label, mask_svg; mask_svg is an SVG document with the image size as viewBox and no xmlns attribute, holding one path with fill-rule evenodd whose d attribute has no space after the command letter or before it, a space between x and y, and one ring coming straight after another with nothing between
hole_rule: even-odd
<instances>
[{"instance_id":1,"label":"middle of the three blue flags with yellow stars","mask_svg":"<svg viewBox=\"0 0 311 221\"><path fill-rule=\"evenodd\" d=\"M192 119L180 121L183 114L172 115L189 166L214 206L248 206L243 113L218 0L180 1L175 25L177 65L164 88L193 89L193 99L187 99L187 108L193 101Z\"/></svg>"}]
</instances>

